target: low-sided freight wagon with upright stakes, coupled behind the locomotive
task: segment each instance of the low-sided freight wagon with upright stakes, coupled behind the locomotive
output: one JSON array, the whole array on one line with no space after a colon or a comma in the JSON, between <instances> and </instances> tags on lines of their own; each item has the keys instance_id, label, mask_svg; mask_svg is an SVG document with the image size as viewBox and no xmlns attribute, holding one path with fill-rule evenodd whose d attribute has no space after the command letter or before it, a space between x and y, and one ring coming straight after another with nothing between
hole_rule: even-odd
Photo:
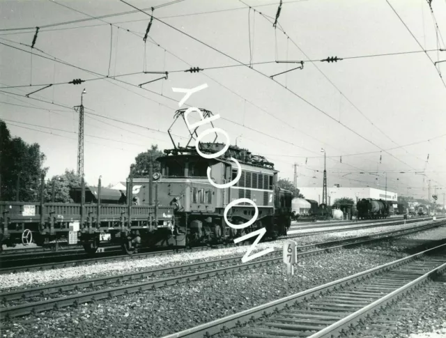
<instances>
[{"instance_id":1,"label":"low-sided freight wagon with upright stakes, coupled behind the locomotive","mask_svg":"<svg viewBox=\"0 0 446 338\"><path fill-rule=\"evenodd\" d=\"M134 206L130 197L121 205L102 203L100 199L96 203L85 203L84 180L80 203L44 203L44 181L42 177L40 202L0 202L1 245L36 243L57 249L59 245L80 244L93 254L101 245L118 244L131 254L134 243L160 245L154 240L160 233L171 245L181 241L172 235L174 208L171 206Z\"/></svg>"}]
</instances>

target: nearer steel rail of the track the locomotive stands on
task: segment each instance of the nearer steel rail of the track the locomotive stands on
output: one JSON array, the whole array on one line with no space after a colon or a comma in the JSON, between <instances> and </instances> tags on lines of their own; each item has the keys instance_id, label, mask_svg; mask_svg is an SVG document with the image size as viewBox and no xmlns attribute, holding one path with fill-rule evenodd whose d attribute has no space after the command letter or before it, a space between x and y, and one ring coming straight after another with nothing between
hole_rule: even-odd
<instances>
[{"instance_id":1,"label":"nearer steel rail of the track the locomotive stands on","mask_svg":"<svg viewBox=\"0 0 446 338\"><path fill-rule=\"evenodd\" d=\"M400 224L410 224L410 223L416 223L416 222L427 222L431 220L409 220L406 222L403 221L397 221L397 222L392 222L392 223L386 223L386 224L379 224L379 223L374 223L374 224L369 224L366 226L351 226L348 228L342 228L342 229L329 229L329 230L325 230L325 231L310 231L310 232L304 232L304 233L293 233L293 234L289 234L287 236L282 236L277 238L277 240L282 240L282 239L290 239L290 238L299 238L299 237L305 237L305 236L316 236L316 235L320 235L323 233L336 233L336 232L344 232L344 231L353 231L353 230L358 230L358 229L369 229L369 228L376 228L376 227L381 227L381 226L395 226L395 225L400 225ZM240 243L238 245L250 245L250 243ZM90 259L82 259L82 260L70 260L70 261L61 261L61 262L52 262L52 263L37 263L37 264L31 264L31 265L25 265L25 266L14 266L14 267L6 267L6 268L0 268L0 275L1 274L5 274L5 273L16 273L16 272L22 272L22 271L36 271L36 270L48 270L48 269L55 269L55 268L68 268L70 266L85 266L85 265L89 265L92 263L99 263L99 262L104 262L104 261L114 261L114 260L132 260L132 259L145 259L148 258L150 256L164 256L167 254L174 254L174 253L178 253L178 252L195 252L195 251L205 251L205 250L209 250L209 249L219 249L222 247L233 247L236 246L233 243L229 243L226 245L212 245L212 246L205 246L205 247L192 247L192 249L187 249L187 248L182 248L182 249L173 249L173 250L163 250L163 251L155 251L155 252L144 252L144 253L139 253L139 254L132 254L132 255L128 255L128 254L123 254L123 255L113 255L113 252L108 252L108 254L112 254L111 256L98 256L98 257L93 257ZM107 254L107 252L105 252L105 254ZM79 256L79 255L76 255ZM82 255L81 255L82 256ZM59 256L56 256L56 258L58 258ZM63 258L68 259L70 256L68 255L63 255ZM82 258L84 258L85 255L82 256ZM39 257L37 257L36 259L33 260L38 260L40 259ZM4 266L5 263L13 263L14 261L3 261L2 265Z\"/></svg>"}]
</instances>

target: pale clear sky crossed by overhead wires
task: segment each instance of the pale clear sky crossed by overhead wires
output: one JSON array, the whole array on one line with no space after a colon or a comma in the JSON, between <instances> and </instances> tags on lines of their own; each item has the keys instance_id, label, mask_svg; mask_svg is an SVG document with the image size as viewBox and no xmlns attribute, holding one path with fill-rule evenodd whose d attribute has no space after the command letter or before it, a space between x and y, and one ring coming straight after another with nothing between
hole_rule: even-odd
<instances>
[{"instance_id":1,"label":"pale clear sky crossed by overhead wires","mask_svg":"<svg viewBox=\"0 0 446 338\"><path fill-rule=\"evenodd\" d=\"M0 118L40 144L49 176L77 168L84 88L84 172L107 185L152 144L173 148L172 88L207 84L181 108L219 114L215 127L279 178L296 168L298 186L321 186L323 148L328 186L382 189L387 177L387 190L427 198L431 180L443 199L446 62L433 63L446 60L446 0L432 12L426 0L288 0L276 28L277 0L126 2L154 8L146 43L150 16L120 0L1 1ZM321 61L331 56L343 60ZM185 146L183 121L171 133Z\"/></svg>"}]
</instances>

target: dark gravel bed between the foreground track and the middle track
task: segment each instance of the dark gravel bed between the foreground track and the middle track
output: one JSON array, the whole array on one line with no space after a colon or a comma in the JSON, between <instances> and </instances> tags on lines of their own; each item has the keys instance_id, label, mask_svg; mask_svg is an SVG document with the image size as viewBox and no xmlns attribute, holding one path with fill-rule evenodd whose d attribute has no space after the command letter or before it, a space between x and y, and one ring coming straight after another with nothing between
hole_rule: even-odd
<instances>
[{"instance_id":1,"label":"dark gravel bed between the foreground track and the middle track","mask_svg":"<svg viewBox=\"0 0 446 338\"><path fill-rule=\"evenodd\" d=\"M429 233L436 239L440 234L446 236L444 228ZM407 256L404 241L398 242L305 257L295 265L293 276L286 275L284 264L274 264L59 312L14 318L3 323L2 335L162 337ZM410 243L409 246L417 245Z\"/></svg>"}]
</instances>

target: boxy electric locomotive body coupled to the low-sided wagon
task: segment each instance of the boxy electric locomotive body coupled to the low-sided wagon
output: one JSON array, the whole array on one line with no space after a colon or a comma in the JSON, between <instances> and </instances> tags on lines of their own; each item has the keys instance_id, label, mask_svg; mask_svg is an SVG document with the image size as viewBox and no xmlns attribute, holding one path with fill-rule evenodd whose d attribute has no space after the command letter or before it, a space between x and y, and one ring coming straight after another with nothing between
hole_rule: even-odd
<instances>
[{"instance_id":1,"label":"boxy electric locomotive body coupled to the low-sided wagon","mask_svg":"<svg viewBox=\"0 0 446 338\"><path fill-rule=\"evenodd\" d=\"M199 147L203 153L217 153L224 144L200 143ZM174 234L185 236L184 245L222 243L263 227L266 238L286 235L291 226L292 193L277 186L278 171L266 158L237 146L229 146L224 155L213 159L201 157L196 148L190 146L176 146L164 153L157 158L161 173L134 177L133 192L139 201L148 203L150 192L155 188L160 206L174 208ZM236 179L238 169L229 160L231 157L240 163L240 180L231 187L214 187L208 180L208 168L215 184ZM242 198L254 201L259 215L251 226L236 230L224 221L224 209ZM243 224L253 216L254 206L249 203L233 206L227 215L232 224Z\"/></svg>"}]
</instances>

